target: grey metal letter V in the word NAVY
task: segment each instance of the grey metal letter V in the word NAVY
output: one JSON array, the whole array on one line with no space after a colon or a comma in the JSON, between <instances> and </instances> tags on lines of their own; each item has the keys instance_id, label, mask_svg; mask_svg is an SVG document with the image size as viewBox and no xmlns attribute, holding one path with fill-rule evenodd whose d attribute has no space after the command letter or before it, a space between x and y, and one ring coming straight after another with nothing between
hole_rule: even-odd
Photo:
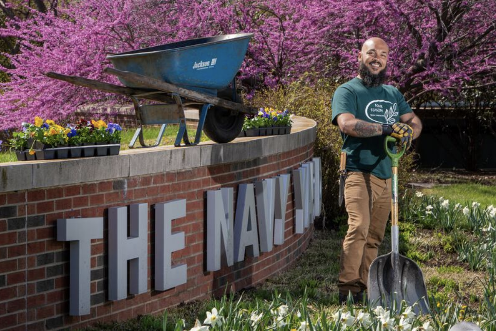
<instances>
[{"instance_id":1,"label":"grey metal letter V in the word NAVY","mask_svg":"<svg viewBox=\"0 0 496 331\"><path fill-rule=\"evenodd\" d=\"M256 215L258 219L260 250L272 251L274 242L275 178L255 182Z\"/></svg>"}]
</instances>

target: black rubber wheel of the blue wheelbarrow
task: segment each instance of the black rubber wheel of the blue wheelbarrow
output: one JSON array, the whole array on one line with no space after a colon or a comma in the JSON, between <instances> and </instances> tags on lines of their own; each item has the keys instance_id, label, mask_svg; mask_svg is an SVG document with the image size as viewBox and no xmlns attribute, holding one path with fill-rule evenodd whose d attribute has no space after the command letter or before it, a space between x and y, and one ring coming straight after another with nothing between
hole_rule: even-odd
<instances>
[{"instance_id":1,"label":"black rubber wheel of the blue wheelbarrow","mask_svg":"<svg viewBox=\"0 0 496 331\"><path fill-rule=\"evenodd\" d=\"M236 100L233 100L232 89L224 89L217 94L219 98L240 102L241 98L236 94ZM233 114L232 110L212 106L207 112L203 132L213 141L224 143L234 140L243 128L245 114Z\"/></svg>"}]
</instances>

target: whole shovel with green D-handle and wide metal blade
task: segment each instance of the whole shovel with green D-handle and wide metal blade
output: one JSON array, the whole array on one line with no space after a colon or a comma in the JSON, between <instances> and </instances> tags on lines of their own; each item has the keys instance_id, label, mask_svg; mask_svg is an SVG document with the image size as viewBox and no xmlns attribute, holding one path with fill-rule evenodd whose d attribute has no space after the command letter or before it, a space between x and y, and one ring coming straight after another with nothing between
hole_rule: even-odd
<instances>
[{"instance_id":1,"label":"whole shovel with green D-handle and wide metal blade","mask_svg":"<svg viewBox=\"0 0 496 331\"><path fill-rule=\"evenodd\" d=\"M387 136L384 140L384 149L391 158L392 167L392 198L391 198L391 253L377 257L369 269L368 295L372 307L401 309L401 302L407 305L416 303L413 310L430 313L424 275L419 266L398 252L398 160L403 155L406 145L397 153L388 148L389 142L396 139Z\"/></svg>"}]
</instances>

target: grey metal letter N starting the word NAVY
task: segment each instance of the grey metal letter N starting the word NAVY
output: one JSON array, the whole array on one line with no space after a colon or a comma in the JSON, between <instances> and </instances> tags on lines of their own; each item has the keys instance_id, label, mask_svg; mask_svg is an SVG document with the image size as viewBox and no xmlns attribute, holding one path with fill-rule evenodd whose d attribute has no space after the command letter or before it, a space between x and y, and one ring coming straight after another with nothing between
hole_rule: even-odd
<instances>
[{"instance_id":1,"label":"grey metal letter N starting the word NAVY","mask_svg":"<svg viewBox=\"0 0 496 331\"><path fill-rule=\"evenodd\" d=\"M234 199L233 189L207 191L207 270L221 267L221 256L227 265L234 264Z\"/></svg>"}]
</instances>

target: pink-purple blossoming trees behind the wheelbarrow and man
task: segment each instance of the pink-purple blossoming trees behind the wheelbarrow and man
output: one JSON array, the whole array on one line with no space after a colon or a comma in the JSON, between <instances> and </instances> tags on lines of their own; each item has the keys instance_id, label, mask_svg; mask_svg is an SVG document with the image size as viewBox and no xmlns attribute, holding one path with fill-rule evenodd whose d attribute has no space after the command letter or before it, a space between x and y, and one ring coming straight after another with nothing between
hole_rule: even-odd
<instances>
[{"instance_id":1,"label":"pink-purple blossoming trees behind the wheelbarrow and man","mask_svg":"<svg viewBox=\"0 0 496 331\"><path fill-rule=\"evenodd\" d=\"M3 68L10 81L0 86L1 129L35 115L63 119L85 103L122 101L50 79L47 71L117 82L103 73L108 54L241 31L254 33L240 76L249 88L286 84L305 72L353 77L360 45L371 36L389 43L390 81L412 102L495 81L493 0L85 0L56 10L45 3L52 10L7 17L0 29L18 48Z\"/></svg>"}]
</instances>

